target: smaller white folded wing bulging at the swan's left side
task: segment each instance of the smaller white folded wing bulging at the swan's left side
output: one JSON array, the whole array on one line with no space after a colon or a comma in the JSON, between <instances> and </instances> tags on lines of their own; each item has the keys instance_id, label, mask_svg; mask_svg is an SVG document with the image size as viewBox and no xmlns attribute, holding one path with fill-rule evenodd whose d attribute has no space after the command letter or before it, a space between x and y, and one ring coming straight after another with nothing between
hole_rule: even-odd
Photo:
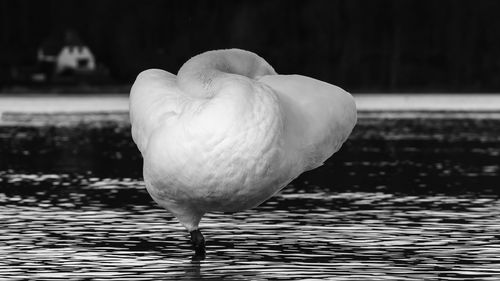
<instances>
[{"instance_id":1,"label":"smaller white folded wing bulging at the swan's left side","mask_svg":"<svg viewBox=\"0 0 500 281\"><path fill-rule=\"evenodd\" d=\"M132 138L142 154L155 129L182 111L185 97L176 81L172 73L148 69L137 76L132 86L129 104Z\"/></svg>"}]
</instances>

